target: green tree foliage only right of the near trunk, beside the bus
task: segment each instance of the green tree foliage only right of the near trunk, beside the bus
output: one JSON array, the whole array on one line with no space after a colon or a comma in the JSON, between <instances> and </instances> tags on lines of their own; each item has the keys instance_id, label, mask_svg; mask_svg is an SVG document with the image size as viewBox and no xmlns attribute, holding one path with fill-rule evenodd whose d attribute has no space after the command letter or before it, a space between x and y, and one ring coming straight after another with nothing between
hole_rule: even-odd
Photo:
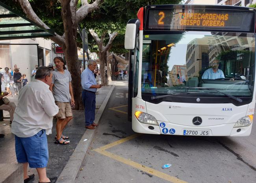
<instances>
[{"instance_id":1,"label":"green tree foliage only right of the near trunk, beside the bus","mask_svg":"<svg viewBox=\"0 0 256 183\"><path fill-rule=\"evenodd\" d=\"M124 49L124 33L128 20L137 18L137 11L140 7L153 4L179 4L182 0L104 0L98 11L90 13L81 22L80 27L94 29L98 35L107 30L117 31L119 35L114 39L111 52L121 54L127 52ZM91 35L88 36L89 49L91 52L98 52L96 42ZM105 45L108 39L104 40Z\"/></svg>"}]
</instances>

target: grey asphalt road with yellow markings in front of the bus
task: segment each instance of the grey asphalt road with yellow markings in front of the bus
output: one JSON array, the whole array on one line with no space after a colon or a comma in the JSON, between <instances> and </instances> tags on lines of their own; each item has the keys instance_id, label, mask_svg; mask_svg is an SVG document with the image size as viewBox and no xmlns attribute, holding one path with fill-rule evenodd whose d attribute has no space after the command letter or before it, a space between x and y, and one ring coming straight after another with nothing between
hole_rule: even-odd
<instances>
[{"instance_id":1,"label":"grey asphalt road with yellow markings in front of the bus","mask_svg":"<svg viewBox=\"0 0 256 183\"><path fill-rule=\"evenodd\" d=\"M131 136L127 93L115 87L76 183L256 183L255 124L249 137Z\"/></svg>"}]
</instances>

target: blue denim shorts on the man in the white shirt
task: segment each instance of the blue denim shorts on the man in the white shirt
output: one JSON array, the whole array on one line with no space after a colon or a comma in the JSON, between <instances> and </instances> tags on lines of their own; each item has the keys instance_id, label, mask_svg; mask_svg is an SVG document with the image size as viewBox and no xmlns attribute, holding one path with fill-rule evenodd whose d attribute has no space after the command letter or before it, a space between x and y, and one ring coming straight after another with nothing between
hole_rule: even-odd
<instances>
[{"instance_id":1,"label":"blue denim shorts on the man in the white shirt","mask_svg":"<svg viewBox=\"0 0 256 183\"><path fill-rule=\"evenodd\" d=\"M15 151L18 163L28 162L30 168L45 168L49 157L45 129L32 137L15 135Z\"/></svg>"}]
</instances>

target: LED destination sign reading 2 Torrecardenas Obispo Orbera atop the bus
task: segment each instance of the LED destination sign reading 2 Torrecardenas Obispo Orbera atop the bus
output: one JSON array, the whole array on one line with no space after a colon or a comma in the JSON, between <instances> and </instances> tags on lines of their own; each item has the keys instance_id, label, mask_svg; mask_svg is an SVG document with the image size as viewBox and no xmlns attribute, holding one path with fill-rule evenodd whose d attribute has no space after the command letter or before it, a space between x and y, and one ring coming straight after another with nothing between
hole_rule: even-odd
<instances>
[{"instance_id":1,"label":"LED destination sign reading 2 Torrecardenas Obispo Orbera atop the bus","mask_svg":"<svg viewBox=\"0 0 256 183\"><path fill-rule=\"evenodd\" d=\"M147 9L145 30L254 32L254 11Z\"/></svg>"}]
</instances>

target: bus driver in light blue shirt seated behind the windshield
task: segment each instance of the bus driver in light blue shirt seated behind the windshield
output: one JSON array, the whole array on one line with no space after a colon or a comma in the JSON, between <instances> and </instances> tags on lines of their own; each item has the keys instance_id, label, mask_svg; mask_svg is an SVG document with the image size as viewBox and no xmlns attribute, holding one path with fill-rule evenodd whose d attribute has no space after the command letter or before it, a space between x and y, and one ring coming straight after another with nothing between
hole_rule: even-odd
<instances>
[{"instance_id":1,"label":"bus driver in light blue shirt seated behind the windshield","mask_svg":"<svg viewBox=\"0 0 256 183\"><path fill-rule=\"evenodd\" d=\"M202 79L219 79L219 78L225 78L224 73L219 67L219 61L215 60L212 62L212 68L208 68L206 71L204 71L204 74L202 75Z\"/></svg>"}]
</instances>

